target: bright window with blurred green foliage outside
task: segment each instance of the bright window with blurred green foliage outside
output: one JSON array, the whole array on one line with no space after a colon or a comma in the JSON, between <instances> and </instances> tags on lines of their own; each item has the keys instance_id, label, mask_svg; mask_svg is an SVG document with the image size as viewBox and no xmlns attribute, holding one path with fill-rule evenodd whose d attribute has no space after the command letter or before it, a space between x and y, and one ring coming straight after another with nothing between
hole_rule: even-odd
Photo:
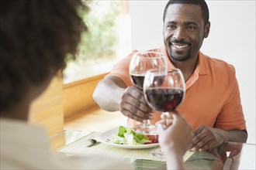
<instances>
[{"instance_id":1,"label":"bright window with blurred green foliage outside","mask_svg":"<svg viewBox=\"0 0 256 170\"><path fill-rule=\"evenodd\" d=\"M129 1L86 1L84 15L88 32L83 32L78 59L67 63L64 83L107 73L131 51Z\"/></svg>"}]
</instances>

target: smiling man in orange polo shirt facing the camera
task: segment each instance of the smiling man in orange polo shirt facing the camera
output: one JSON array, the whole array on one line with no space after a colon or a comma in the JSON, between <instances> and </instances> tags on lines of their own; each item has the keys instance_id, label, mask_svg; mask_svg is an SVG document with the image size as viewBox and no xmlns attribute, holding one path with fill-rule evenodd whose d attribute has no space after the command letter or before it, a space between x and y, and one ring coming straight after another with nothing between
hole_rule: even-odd
<instances>
[{"instance_id":1,"label":"smiling man in orange polo shirt facing the camera","mask_svg":"<svg viewBox=\"0 0 256 170\"><path fill-rule=\"evenodd\" d=\"M151 49L164 53L168 68L175 66L186 82L185 100L178 111L192 124L192 150L207 150L223 141L246 142L247 131L234 66L201 53L209 35L209 9L205 1L171 0L164 8L164 46ZM133 51L136 53L136 51ZM93 95L102 109L120 110L128 124L151 119L143 92L133 87L129 76L131 53L113 66ZM133 119L133 120L131 120Z\"/></svg>"}]
</instances>

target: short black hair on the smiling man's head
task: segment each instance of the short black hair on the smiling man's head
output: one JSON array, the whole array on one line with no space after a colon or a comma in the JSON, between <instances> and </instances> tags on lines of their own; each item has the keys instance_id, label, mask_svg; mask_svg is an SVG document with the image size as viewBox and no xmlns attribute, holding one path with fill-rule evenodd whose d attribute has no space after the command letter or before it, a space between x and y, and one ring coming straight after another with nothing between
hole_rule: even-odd
<instances>
[{"instance_id":1,"label":"short black hair on the smiling man's head","mask_svg":"<svg viewBox=\"0 0 256 170\"><path fill-rule=\"evenodd\" d=\"M206 1L204 0L170 0L167 5L165 5L164 8L164 16L163 16L163 21L166 17L166 12L171 4L194 4L194 5L199 5L202 9L202 19L203 22L206 26L206 24L209 22L209 8L206 4Z\"/></svg>"}]
</instances>

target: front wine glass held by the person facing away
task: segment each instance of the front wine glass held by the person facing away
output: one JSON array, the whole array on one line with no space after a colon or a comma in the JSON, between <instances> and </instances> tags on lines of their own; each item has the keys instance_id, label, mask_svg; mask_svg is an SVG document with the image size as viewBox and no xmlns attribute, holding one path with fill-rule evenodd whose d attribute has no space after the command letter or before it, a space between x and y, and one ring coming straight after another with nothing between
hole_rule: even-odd
<instances>
[{"instance_id":1,"label":"front wine glass held by the person facing away","mask_svg":"<svg viewBox=\"0 0 256 170\"><path fill-rule=\"evenodd\" d=\"M182 72L175 68L168 72L148 70L144 78L144 95L152 109L162 112L162 119L171 117L185 98ZM164 121L168 124L165 118ZM152 155L162 158L164 153L159 148Z\"/></svg>"}]
</instances>

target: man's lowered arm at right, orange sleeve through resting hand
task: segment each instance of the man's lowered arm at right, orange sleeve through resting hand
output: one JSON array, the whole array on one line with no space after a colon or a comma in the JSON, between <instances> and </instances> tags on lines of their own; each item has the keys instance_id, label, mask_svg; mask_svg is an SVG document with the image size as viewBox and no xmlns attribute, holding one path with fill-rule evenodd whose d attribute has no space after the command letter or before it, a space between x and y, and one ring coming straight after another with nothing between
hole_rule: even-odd
<instances>
[{"instance_id":1,"label":"man's lowered arm at right, orange sleeve through resting hand","mask_svg":"<svg viewBox=\"0 0 256 170\"><path fill-rule=\"evenodd\" d=\"M224 141L242 143L247 141L247 131L245 130L244 114L240 104L240 91L234 66L230 66L229 72L230 87L227 90L227 99L221 108L220 114L216 118L216 128L200 126L195 129L193 131L192 150L206 150L219 146ZM224 131L220 127L230 127L233 130ZM238 130L243 128L244 130Z\"/></svg>"}]
</instances>

